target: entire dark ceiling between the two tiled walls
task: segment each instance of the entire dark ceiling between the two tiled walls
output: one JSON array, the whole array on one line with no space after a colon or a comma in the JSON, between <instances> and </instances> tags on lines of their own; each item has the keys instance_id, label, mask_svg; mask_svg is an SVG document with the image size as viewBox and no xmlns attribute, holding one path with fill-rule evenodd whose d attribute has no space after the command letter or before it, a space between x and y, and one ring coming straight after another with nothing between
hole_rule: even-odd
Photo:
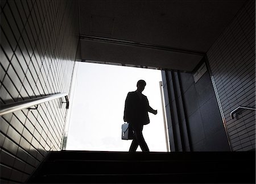
<instances>
[{"instance_id":1,"label":"entire dark ceiling between the two tiled walls","mask_svg":"<svg viewBox=\"0 0 256 184\"><path fill-rule=\"evenodd\" d=\"M191 72L245 0L80 0L80 60Z\"/></svg>"}]
</instances>

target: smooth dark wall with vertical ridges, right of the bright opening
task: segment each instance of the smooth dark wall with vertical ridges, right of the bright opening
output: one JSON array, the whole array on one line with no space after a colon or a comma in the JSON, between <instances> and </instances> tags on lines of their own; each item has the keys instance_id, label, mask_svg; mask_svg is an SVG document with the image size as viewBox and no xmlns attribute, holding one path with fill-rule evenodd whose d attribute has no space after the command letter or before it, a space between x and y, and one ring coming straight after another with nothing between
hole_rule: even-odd
<instances>
[{"instance_id":1,"label":"smooth dark wall with vertical ridges, right of the bright opening","mask_svg":"<svg viewBox=\"0 0 256 184\"><path fill-rule=\"evenodd\" d=\"M171 151L230 150L209 72L196 82L191 73L163 71L162 77L168 79L163 84Z\"/></svg>"}]
</instances>

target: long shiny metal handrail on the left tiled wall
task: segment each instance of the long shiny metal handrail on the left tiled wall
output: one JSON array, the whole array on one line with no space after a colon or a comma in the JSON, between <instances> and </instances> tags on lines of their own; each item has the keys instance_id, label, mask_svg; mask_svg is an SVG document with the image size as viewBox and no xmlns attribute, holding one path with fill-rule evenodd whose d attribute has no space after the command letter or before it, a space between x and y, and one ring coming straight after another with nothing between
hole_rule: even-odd
<instances>
[{"instance_id":1,"label":"long shiny metal handrail on the left tiled wall","mask_svg":"<svg viewBox=\"0 0 256 184\"><path fill-rule=\"evenodd\" d=\"M68 109L69 107L68 93L57 93L57 94L47 95L45 97L38 97L38 98L28 99L22 102L3 105L0 110L0 116L14 112L14 111L22 110L24 108L36 106L40 103L52 101L53 99L57 99L61 97L65 97L66 102L62 102L62 103L66 103L66 108Z\"/></svg>"}]
</instances>

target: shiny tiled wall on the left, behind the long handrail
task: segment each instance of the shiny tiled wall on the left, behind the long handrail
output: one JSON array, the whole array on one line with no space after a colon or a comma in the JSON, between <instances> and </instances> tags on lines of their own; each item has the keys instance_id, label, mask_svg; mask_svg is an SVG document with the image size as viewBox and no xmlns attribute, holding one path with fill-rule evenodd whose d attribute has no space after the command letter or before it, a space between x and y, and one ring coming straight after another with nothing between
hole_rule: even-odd
<instances>
[{"instance_id":1,"label":"shiny tiled wall on the left, behind the long handrail","mask_svg":"<svg viewBox=\"0 0 256 184\"><path fill-rule=\"evenodd\" d=\"M1 0L2 105L69 93L78 20L77 1ZM48 150L60 150L66 114L57 99L0 117L1 183L26 181Z\"/></svg>"}]
</instances>

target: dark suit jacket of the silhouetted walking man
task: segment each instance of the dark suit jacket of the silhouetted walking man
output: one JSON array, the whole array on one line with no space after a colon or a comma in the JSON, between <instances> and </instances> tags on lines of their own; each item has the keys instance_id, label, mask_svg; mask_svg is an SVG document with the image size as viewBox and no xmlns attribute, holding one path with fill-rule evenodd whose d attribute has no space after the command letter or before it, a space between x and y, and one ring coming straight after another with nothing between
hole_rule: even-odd
<instances>
[{"instance_id":1,"label":"dark suit jacket of the silhouetted walking man","mask_svg":"<svg viewBox=\"0 0 256 184\"><path fill-rule=\"evenodd\" d=\"M148 124L150 119L148 117L149 103L145 95L139 98L136 91L129 92L125 100L125 112L123 119L131 124Z\"/></svg>"}]
</instances>

